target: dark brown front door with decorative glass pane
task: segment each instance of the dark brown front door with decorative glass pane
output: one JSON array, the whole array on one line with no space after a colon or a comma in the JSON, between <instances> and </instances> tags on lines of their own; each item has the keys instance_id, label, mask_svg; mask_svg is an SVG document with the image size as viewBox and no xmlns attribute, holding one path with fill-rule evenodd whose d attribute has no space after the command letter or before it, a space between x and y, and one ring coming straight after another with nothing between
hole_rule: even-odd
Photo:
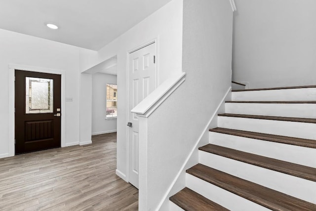
<instances>
[{"instance_id":1,"label":"dark brown front door with decorative glass pane","mask_svg":"<svg viewBox=\"0 0 316 211\"><path fill-rule=\"evenodd\" d=\"M15 70L15 154L60 147L61 75Z\"/></svg>"}]
</instances>

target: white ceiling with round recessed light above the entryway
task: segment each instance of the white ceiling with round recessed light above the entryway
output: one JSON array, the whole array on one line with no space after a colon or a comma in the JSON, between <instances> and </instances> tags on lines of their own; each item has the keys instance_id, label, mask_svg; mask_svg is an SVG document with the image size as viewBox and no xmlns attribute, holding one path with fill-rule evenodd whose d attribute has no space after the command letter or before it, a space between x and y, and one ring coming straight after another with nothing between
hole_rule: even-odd
<instances>
[{"instance_id":1,"label":"white ceiling with round recessed light above the entryway","mask_svg":"<svg viewBox=\"0 0 316 211\"><path fill-rule=\"evenodd\" d=\"M99 50L169 1L0 0L0 28Z\"/></svg>"}]
</instances>

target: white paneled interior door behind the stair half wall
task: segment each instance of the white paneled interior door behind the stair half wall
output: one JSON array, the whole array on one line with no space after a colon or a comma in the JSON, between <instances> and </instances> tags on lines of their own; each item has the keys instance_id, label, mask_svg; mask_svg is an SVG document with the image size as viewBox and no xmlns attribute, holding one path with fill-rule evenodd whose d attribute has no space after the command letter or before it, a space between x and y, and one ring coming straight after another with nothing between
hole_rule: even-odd
<instances>
[{"instance_id":1,"label":"white paneled interior door behind the stair half wall","mask_svg":"<svg viewBox=\"0 0 316 211\"><path fill-rule=\"evenodd\" d=\"M128 180L138 188L138 117L130 111L156 88L156 43L129 54Z\"/></svg>"}]
</instances>

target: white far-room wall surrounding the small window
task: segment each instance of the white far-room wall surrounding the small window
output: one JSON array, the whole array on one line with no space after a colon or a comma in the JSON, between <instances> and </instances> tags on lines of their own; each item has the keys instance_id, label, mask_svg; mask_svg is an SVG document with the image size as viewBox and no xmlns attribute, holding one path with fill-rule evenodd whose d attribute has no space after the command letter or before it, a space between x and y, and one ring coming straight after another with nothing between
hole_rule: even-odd
<instances>
[{"instance_id":1,"label":"white far-room wall surrounding the small window","mask_svg":"<svg viewBox=\"0 0 316 211\"><path fill-rule=\"evenodd\" d=\"M92 135L117 131L117 119L106 118L107 84L117 84L115 75L92 75ZM118 97L119 97L118 87Z\"/></svg>"}]
</instances>

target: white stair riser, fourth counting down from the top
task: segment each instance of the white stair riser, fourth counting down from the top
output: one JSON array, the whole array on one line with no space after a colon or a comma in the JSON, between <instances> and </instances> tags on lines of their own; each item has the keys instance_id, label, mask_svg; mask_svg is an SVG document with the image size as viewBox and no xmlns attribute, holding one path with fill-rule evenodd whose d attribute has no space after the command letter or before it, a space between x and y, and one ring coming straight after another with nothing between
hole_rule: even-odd
<instances>
[{"instance_id":1,"label":"white stair riser, fourth counting down from the top","mask_svg":"<svg viewBox=\"0 0 316 211\"><path fill-rule=\"evenodd\" d=\"M316 168L316 149L253 138L209 132L209 143Z\"/></svg>"}]
</instances>

